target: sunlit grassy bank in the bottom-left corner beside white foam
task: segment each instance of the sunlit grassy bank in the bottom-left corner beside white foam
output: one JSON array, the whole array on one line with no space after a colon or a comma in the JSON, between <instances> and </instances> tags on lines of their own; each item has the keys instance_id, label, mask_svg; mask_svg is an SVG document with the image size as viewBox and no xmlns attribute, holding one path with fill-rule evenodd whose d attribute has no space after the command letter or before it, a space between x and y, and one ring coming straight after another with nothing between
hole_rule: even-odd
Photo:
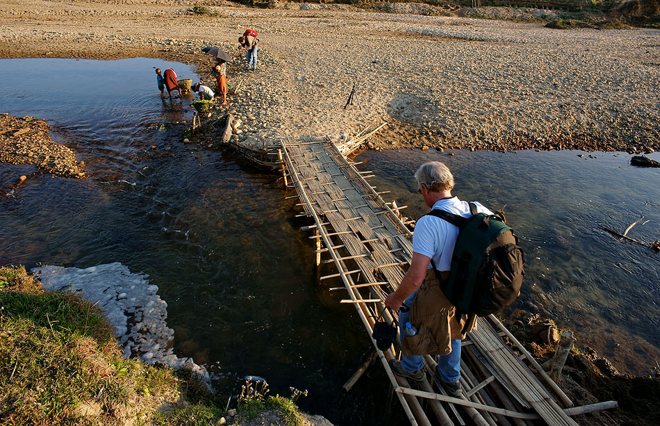
<instances>
[{"instance_id":1,"label":"sunlit grassy bank in the bottom-left corner beside white foam","mask_svg":"<svg viewBox=\"0 0 660 426\"><path fill-rule=\"evenodd\" d=\"M22 267L0 271L8 283L0 290L0 424L123 425L126 419L136 424L165 419L159 424L204 425L177 419L222 416L220 404L194 373L125 359L113 327L90 302L41 290ZM183 402L186 397L204 404L190 405ZM171 409L157 414L163 405ZM202 416L205 412L212 415Z\"/></svg>"}]
</instances>

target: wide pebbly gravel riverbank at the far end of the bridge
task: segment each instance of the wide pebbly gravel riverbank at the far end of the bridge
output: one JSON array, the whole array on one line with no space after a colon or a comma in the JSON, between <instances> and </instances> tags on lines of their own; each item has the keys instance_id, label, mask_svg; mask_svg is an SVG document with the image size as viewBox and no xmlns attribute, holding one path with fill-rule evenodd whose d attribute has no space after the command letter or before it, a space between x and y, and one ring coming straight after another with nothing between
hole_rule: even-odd
<instances>
[{"instance_id":1,"label":"wide pebbly gravel riverbank at the far end of the bridge","mask_svg":"<svg viewBox=\"0 0 660 426\"><path fill-rule=\"evenodd\" d=\"M384 121L377 149L660 149L658 30L559 31L299 4L195 15L192 6L3 0L0 57L148 56L194 63L211 81L211 58L199 49L238 55L235 40L251 27L258 69L238 57L229 66L230 84L243 79L230 100L245 145L342 140ZM344 109L353 84L362 108Z\"/></svg>"}]
</instances>

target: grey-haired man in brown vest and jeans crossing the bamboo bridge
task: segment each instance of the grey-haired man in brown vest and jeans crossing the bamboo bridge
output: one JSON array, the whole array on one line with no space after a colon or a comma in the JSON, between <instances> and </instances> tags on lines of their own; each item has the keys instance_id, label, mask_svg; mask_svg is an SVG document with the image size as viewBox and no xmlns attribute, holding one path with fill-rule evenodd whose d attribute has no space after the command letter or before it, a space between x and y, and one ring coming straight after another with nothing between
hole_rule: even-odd
<instances>
[{"instance_id":1,"label":"grey-haired man in brown vest and jeans crossing the bamboo bridge","mask_svg":"<svg viewBox=\"0 0 660 426\"><path fill-rule=\"evenodd\" d=\"M469 218L470 205L452 195L454 177L446 165L438 161L423 164L417 172L418 192L431 209L442 209ZM480 213L493 213L474 203ZM424 215L415 224L413 259L410 268L394 293L385 300L386 306L399 311L402 337L402 358L390 360L390 368L402 377L424 380L424 354L439 355L438 376L449 394L461 395L461 340L476 327L476 317L468 322L467 315L456 315L456 308L440 290L440 278L447 279L452 264L454 245L459 228L433 215ZM417 329L406 335L406 323ZM468 324L466 325L466 322ZM414 331L413 331L414 333Z\"/></svg>"}]
</instances>

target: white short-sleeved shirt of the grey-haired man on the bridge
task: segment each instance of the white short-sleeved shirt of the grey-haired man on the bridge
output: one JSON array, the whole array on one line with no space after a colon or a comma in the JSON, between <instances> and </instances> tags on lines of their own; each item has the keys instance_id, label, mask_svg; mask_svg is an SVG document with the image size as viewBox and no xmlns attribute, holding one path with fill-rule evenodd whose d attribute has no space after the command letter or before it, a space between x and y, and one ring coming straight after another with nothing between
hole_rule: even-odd
<instances>
[{"instance_id":1,"label":"white short-sleeved shirt of the grey-haired man on the bridge","mask_svg":"<svg viewBox=\"0 0 660 426\"><path fill-rule=\"evenodd\" d=\"M493 212L478 202L473 202L479 213L492 215ZM433 205L433 209L470 217L470 204L461 201L458 197L440 199ZM459 227L435 216L422 216L415 224L413 233L413 252L423 254L433 259L439 271L448 271L452 268L452 254L459 238ZM433 268L429 262L429 269Z\"/></svg>"}]
</instances>

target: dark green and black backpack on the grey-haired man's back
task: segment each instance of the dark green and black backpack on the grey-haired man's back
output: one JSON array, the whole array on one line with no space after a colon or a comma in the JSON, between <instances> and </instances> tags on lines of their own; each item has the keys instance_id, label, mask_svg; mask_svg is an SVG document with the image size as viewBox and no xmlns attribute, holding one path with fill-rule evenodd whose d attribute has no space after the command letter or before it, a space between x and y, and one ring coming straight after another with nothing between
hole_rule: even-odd
<instances>
[{"instance_id":1,"label":"dark green and black backpack on the grey-haired man's back","mask_svg":"<svg viewBox=\"0 0 660 426\"><path fill-rule=\"evenodd\" d=\"M525 275L522 270L525 255L501 215L477 213L473 203L470 213L470 218L439 209L427 213L459 227L449 278L443 281L436 265L433 268L440 288L456 306L457 313L487 316L509 306L518 297Z\"/></svg>"}]
</instances>

